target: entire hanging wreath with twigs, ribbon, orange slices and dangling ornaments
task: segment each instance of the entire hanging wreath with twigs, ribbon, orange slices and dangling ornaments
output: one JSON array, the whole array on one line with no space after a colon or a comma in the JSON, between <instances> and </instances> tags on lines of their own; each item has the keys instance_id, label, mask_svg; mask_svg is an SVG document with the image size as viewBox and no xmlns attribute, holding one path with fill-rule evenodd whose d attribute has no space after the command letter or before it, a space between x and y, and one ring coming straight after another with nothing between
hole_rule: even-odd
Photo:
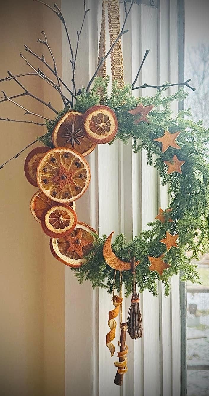
<instances>
[{"instance_id":1,"label":"entire hanging wreath with twigs, ribbon, orange slices and dangling ornaments","mask_svg":"<svg viewBox=\"0 0 209 396\"><path fill-rule=\"evenodd\" d=\"M169 105L171 101L183 100L186 96L183 89L173 95L164 96L164 91L171 84L149 86L144 84L135 87L140 70L149 53L146 51L132 86L124 86L121 36L134 0L127 9L124 0L125 19L120 30L119 2L107 0L108 22L111 48L105 49L105 2L102 7L102 24L98 67L88 83L87 88L75 88L75 63L79 38L88 13L84 1L84 17L81 29L77 31L77 46L73 52L70 35L61 10L36 0L50 8L61 20L66 30L71 53L72 89L58 75L55 58L49 47L44 31L44 40L38 40L49 50L54 69L25 46L26 51L39 59L51 70L57 83L45 75L40 68L34 68L21 54L26 64L33 69L32 73L13 75L0 80L14 80L24 93L8 97L4 91L2 101L10 101L31 114L45 119L44 116L30 112L13 99L29 95L56 113L55 120L48 119L45 124L34 121L11 120L12 122L31 122L38 126L47 126L47 133L37 139L46 147L32 150L25 161L24 171L28 181L40 189L30 202L34 218L41 223L43 231L51 237L50 249L54 257L77 271L80 283L90 279L92 287L106 287L113 293L115 309L109 312L109 333L106 345L114 354L115 318L121 312L121 343L118 352L119 362L115 362L117 374L114 383L122 385L127 371L127 352L125 343L126 331L131 338L142 337L142 321L139 310L139 294L148 289L156 295L156 280L165 285L165 294L169 293L169 277L184 271L182 280L198 282L198 274L192 259L208 250L209 239L209 166L207 162L209 134L202 122L194 123L187 116L189 110L179 112L173 118ZM108 93L109 77L105 77L105 60L111 54L113 87ZM25 75L36 75L49 83L60 94L64 110L58 112L51 103L39 99L19 82ZM100 76L100 77L96 77ZM115 79L117 76L117 80ZM187 80L172 84L192 88ZM62 93L61 85L71 98ZM90 89L90 87L92 88ZM153 87L158 91L154 97L133 97L132 90ZM89 91L90 89L90 91ZM161 110L159 110L161 108ZM5 120L0 118L0 120ZM75 201L87 190L90 182L90 169L85 159L96 147L96 144L113 143L114 139L127 143L130 138L134 152L144 149L147 164L158 170L162 185L169 183L170 203L168 208L159 208L159 213L149 229L142 231L132 241L126 243L124 235L111 239L109 235L99 237L89 225L77 221ZM21 152L26 150L25 147ZM13 158L17 158L21 152ZM154 157L153 157L154 154ZM10 160L12 160L11 158ZM3 168L2 164L0 168ZM190 252L190 257L185 252ZM131 307L126 323L122 323L122 283L126 295L132 293ZM114 294L115 288L120 296Z\"/></svg>"}]
</instances>

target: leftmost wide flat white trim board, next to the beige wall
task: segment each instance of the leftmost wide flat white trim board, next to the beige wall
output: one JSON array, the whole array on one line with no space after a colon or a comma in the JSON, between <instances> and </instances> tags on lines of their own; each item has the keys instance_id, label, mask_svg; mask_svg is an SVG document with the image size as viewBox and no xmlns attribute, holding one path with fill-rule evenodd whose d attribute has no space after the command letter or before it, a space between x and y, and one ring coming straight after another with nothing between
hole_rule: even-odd
<instances>
[{"instance_id":1,"label":"leftmost wide flat white trim board, next to the beige wall","mask_svg":"<svg viewBox=\"0 0 209 396\"><path fill-rule=\"evenodd\" d=\"M96 66L95 30L97 30L96 1L87 1L85 25L79 45L77 58L77 87L86 85ZM62 12L66 15L71 32L72 45L75 48L76 30L83 19L83 0L73 2L69 7L67 0L62 1ZM62 74L70 84L71 65L69 63L68 43L62 31L63 48ZM83 59L85 56L85 68ZM98 228L96 208L98 206L98 150L94 150L87 160L91 170L91 182L87 192L76 203L78 219ZM98 395L98 291L93 291L90 282L78 284L70 268L65 268L65 392L66 396Z\"/></svg>"}]
</instances>

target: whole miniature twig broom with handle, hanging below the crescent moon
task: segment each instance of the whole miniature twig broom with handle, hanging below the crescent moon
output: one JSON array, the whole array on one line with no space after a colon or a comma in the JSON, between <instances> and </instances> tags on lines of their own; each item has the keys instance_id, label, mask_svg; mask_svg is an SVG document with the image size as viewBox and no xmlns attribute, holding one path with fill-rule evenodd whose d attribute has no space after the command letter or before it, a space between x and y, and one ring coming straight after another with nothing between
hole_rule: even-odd
<instances>
[{"instance_id":1,"label":"whole miniature twig broom with handle, hanging below the crescent moon","mask_svg":"<svg viewBox=\"0 0 209 396\"><path fill-rule=\"evenodd\" d=\"M128 311L127 333L132 339L137 340L143 336L141 312L139 308L139 295L136 293L136 257L131 259L132 263L132 298Z\"/></svg>"}]
</instances>

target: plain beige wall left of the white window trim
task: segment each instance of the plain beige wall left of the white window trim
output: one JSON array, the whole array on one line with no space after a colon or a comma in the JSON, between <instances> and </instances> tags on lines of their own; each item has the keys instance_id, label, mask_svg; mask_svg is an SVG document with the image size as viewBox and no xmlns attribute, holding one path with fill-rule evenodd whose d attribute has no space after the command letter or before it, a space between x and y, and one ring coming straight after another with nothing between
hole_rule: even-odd
<instances>
[{"instance_id":1,"label":"plain beige wall left of the white window trim","mask_svg":"<svg viewBox=\"0 0 209 396\"><path fill-rule=\"evenodd\" d=\"M24 53L25 43L42 54L37 38L43 29L56 54L58 67L61 66L60 21L41 4L31 0L2 2L0 29L0 78L6 76L8 69L13 74L30 71L19 52ZM34 65L40 65L32 55L25 55ZM62 106L56 92L45 87L40 78L27 77L21 81L28 90L51 101L56 109ZM0 88L7 95L21 92L15 82L1 83ZM30 97L19 101L34 112L54 116L51 110L45 113L43 105ZM12 103L0 105L0 117L31 119ZM0 121L0 164L43 133L43 127ZM37 188L24 177L24 158L29 151L0 170L0 394L62 396L64 266L51 255L49 238L30 214L30 199Z\"/></svg>"}]
</instances>

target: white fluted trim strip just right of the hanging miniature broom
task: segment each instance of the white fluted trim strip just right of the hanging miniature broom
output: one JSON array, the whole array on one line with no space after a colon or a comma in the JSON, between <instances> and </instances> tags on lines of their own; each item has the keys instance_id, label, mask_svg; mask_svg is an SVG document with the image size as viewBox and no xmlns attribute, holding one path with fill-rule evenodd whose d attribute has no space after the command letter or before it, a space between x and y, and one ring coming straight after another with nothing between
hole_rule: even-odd
<instances>
[{"instance_id":1,"label":"white fluted trim strip just right of the hanging miniature broom","mask_svg":"<svg viewBox=\"0 0 209 396\"><path fill-rule=\"evenodd\" d=\"M141 5L141 56L150 49L149 61L141 72L142 82L156 84L158 78L157 10ZM153 90L142 90L142 95L152 95ZM157 173L147 166L145 152L141 153L142 228L153 221L157 211ZM160 394L159 303L148 291L143 293L143 395Z\"/></svg>"}]
</instances>

